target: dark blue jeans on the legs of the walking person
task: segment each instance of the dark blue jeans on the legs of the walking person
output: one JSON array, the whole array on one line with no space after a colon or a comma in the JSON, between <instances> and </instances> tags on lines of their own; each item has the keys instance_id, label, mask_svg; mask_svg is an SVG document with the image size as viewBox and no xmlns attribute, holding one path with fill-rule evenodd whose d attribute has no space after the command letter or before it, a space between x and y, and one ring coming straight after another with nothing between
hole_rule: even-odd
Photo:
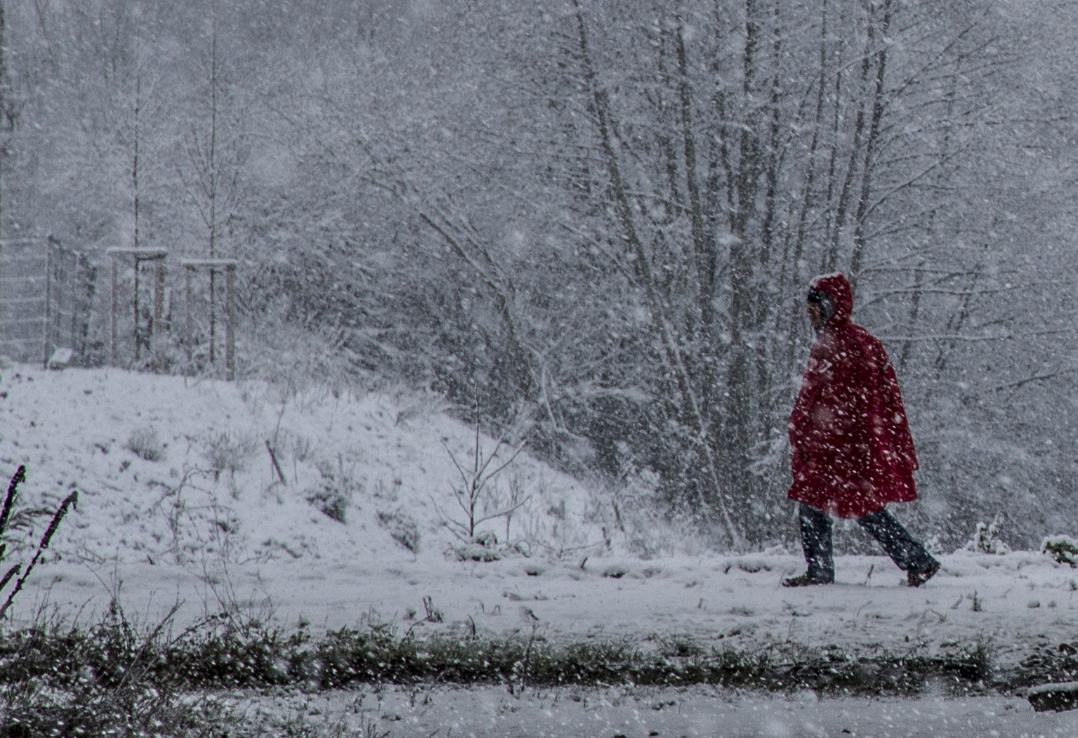
<instances>
[{"instance_id":1,"label":"dark blue jeans on the legs of the walking person","mask_svg":"<svg viewBox=\"0 0 1078 738\"><path fill-rule=\"evenodd\" d=\"M801 545L804 547L808 576L818 582L834 581L834 549L831 543L831 516L800 503ZM886 509L857 518L857 525L880 542L884 552L902 571L922 572L936 559L914 541L902 524Z\"/></svg>"}]
</instances>

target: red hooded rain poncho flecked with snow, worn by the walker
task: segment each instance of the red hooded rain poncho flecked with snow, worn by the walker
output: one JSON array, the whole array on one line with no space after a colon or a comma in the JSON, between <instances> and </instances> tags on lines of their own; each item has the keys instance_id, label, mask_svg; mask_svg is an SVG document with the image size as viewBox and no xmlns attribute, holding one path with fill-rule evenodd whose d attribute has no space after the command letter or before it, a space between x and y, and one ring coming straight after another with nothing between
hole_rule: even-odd
<instances>
[{"instance_id":1,"label":"red hooded rain poncho flecked with snow, worn by the walker","mask_svg":"<svg viewBox=\"0 0 1078 738\"><path fill-rule=\"evenodd\" d=\"M917 455L883 345L849 322L854 293L841 274L811 288L834 300L808 356L790 415L789 498L838 517L862 517L917 498Z\"/></svg>"}]
</instances>

